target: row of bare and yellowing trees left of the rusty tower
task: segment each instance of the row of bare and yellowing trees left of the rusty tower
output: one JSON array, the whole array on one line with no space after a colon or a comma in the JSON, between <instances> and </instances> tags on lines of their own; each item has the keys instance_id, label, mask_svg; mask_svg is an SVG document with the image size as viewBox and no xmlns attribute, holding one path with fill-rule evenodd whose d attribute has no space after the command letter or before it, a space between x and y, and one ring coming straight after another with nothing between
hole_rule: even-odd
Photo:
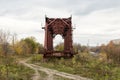
<instances>
[{"instance_id":1,"label":"row of bare and yellowing trees left of the rusty tower","mask_svg":"<svg viewBox=\"0 0 120 80\"><path fill-rule=\"evenodd\" d=\"M43 45L38 43L34 37L17 40L16 34L0 30L0 55L5 54L34 54L40 53Z\"/></svg>"}]
</instances>

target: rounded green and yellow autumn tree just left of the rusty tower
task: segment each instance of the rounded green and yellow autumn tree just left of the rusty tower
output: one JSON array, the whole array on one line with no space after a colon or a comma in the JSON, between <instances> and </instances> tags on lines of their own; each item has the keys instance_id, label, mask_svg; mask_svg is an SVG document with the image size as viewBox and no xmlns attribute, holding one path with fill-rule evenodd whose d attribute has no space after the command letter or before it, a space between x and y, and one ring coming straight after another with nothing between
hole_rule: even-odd
<instances>
[{"instance_id":1,"label":"rounded green and yellow autumn tree just left of the rusty tower","mask_svg":"<svg viewBox=\"0 0 120 80\"><path fill-rule=\"evenodd\" d=\"M43 52L42 44L36 42L34 37L21 39L15 44L15 52L17 54L34 54Z\"/></svg>"}]
</instances>

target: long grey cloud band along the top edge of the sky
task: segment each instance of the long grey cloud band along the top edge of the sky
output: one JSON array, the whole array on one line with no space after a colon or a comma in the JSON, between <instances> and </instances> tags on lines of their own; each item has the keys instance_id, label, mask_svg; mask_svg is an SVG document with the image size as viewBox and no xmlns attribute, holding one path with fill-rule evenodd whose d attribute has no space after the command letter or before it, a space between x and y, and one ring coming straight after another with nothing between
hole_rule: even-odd
<instances>
[{"instance_id":1,"label":"long grey cloud band along the top edge of the sky","mask_svg":"<svg viewBox=\"0 0 120 80\"><path fill-rule=\"evenodd\" d=\"M22 14L35 7L65 9L73 15L85 15L95 10L120 7L120 0L5 0L0 1L4 13Z\"/></svg>"}]
</instances>

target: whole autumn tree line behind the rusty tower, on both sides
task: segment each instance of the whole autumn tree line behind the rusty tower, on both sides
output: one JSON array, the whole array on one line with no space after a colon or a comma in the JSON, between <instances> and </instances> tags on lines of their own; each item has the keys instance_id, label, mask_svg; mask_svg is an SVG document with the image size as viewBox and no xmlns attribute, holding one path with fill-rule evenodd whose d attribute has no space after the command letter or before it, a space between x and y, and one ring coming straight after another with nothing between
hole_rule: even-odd
<instances>
[{"instance_id":1,"label":"whole autumn tree line behind the rusty tower, on both sides","mask_svg":"<svg viewBox=\"0 0 120 80\"><path fill-rule=\"evenodd\" d=\"M74 43L73 48L75 52L99 52L106 55L108 61L120 63L120 44L114 44L112 41L107 45L101 45L97 47L82 46ZM55 46L55 50L62 51L64 44L59 43ZM18 40L16 34L12 34L9 31L0 30L0 55L6 54L35 54L43 53L43 45L36 41L34 37L27 37Z\"/></svg>"}]
</instances>

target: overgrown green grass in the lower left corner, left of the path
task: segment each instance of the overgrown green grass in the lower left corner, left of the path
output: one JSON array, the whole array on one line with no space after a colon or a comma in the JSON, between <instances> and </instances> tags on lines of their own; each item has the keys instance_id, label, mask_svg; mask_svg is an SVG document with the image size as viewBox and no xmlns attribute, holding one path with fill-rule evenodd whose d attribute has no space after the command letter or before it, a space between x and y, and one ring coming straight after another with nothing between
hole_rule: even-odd
<instances>
[{"instance_id":1,"label":"overgrown green grass in the lower left corner, left of the path","mask_svg":"<svg viewBox=\"0 0 120 80\"><path fill-rule=\"evenodd\" d=\"M9 55L6 58L0 56L0 80L31 80L34 71L18 63L16 57Z\"/></svg>"}]
</instances>

